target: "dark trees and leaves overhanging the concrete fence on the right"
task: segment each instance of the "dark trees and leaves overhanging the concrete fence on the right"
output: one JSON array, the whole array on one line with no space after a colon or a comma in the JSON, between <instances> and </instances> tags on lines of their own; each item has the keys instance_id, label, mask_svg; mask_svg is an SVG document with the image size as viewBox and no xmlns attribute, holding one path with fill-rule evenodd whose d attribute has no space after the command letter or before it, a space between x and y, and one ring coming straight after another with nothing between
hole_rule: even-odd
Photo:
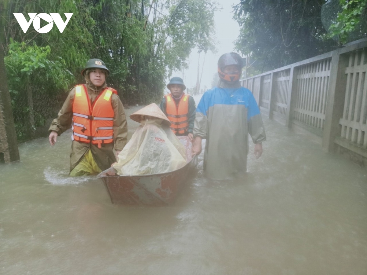
<instances>
[{"instance_id":1,"label":"dark trees and leaves overhanging the concrete fence on the right","mask_svg":"<svg viewBox=\"0 0 367 275\"><path fill-rule=\"evenodd\" d=\"M321 21L321 9L330 2L340 8L334 17L326 19L328 33ZM251 56L253 73L332 51L349 42L348 34L360 21L366 22L366 3L366 0L240 0L234 7L234 18L241 26L236 49ZM361 32L358 38L365 36L366 32Z\"/></svg>"}]
</instances>

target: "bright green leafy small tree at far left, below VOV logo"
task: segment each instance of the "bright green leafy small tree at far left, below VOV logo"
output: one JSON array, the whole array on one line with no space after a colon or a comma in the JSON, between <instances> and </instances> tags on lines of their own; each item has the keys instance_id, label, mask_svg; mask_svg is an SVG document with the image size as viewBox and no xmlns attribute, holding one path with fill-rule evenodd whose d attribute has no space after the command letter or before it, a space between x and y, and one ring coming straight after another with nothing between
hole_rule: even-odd
<instances>
[{"instance_id":1,"label":"bright green leafy small tree at far left, below VOV logo","mask_svg":"<svg viewBox=\"0 0 367 275\"><path fill-rule=\"evenodd\" d=\"M63 59L48 59L50 46L32 46L10 39L4 63L18 140L35 137L36 128L44 126L53 115L57 92L68 88L73 75Z\"/></svg>"}]
</instances>

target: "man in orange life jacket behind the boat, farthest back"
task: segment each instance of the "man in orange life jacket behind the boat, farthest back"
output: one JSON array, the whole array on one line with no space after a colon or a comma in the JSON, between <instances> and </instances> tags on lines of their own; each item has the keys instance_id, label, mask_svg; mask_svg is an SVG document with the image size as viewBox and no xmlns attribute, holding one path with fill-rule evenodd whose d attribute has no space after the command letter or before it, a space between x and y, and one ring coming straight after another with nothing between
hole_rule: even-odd
<instances>
[{"instance_id":1,"label":"man in orange life jacket behind the boat, farthest back","mask_svg":"<svg viewBox=\"0 0 367 275\"><path fill-rule=\"evenodd\" d=\"M195 100L185 94L186 86L180 77L172 77L167 84L170 94L164 95L160 109L171 121L171 130L177 136L189 136L193 140L192 128L195 120Z\"/></svg>"}]
</instances>

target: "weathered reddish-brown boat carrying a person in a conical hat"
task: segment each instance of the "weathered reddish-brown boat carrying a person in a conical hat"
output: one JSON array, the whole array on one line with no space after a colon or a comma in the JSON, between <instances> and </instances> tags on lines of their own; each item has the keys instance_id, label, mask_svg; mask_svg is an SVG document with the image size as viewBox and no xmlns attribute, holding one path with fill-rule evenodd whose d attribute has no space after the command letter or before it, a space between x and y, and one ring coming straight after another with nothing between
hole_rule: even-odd
<instances>
[{"instance_id":1,"label":"weathered reddish-brown boat carrying a person in a conical hat","mask_svg":"<svg viewBox=\"0 0 367 275\"><path fill-rule=\"evenodd\" d=\"M170 205L187 182L190 170L196 165L191 157L192 143L188 136L178 136L186 148L187 163L180 169L160 174L120 176L109 168L97 177L105 183L112 203L124 205Z\"/></svg>"}]
</instances>

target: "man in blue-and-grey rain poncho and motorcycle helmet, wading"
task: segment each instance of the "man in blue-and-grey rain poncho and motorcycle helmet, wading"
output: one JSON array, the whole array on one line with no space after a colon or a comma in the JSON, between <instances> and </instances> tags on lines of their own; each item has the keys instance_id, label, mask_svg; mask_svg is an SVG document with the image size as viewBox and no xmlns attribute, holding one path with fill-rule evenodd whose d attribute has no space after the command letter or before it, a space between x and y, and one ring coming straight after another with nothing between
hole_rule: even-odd
<instances>
[{"instance_id":1,"label":"man in blue-and-grey rain poncho and motorcycle helmet, wading","mask_svg":"<svg viewBox=\"0 0 367 275\"><path fill-rule=\"evenodd\" d=\"M218 60L219 83L206 91L197 105L193 128L193 154L204 150L205 175L224 180L247 169L248 135L255 143L255 157L262 154L265 129L257 102L251 91L241 87L242 58L235 52Z\"/></svg>"}]
</instances>

